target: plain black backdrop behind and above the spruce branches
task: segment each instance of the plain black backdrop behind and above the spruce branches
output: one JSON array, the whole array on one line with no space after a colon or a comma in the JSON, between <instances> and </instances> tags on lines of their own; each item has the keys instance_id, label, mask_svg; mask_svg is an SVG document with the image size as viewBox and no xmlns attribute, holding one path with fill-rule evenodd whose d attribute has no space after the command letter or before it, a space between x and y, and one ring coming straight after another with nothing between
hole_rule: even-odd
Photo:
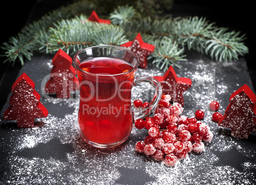
<instances>
[{"instance_id":1,"label":"plain black backdrop behind and above the spruce branches","mask_svg":"<svg viewBox=\"0 0 256 185\"><path fill-rule=\"evenodd\" d=\"M108 1L106 0L106 3ZM38 0L38 1L4 1L1 6L1 46L11 36L17 33L28 23L38 20L41 16L56 8L72 3L68 0ZM230 0L176 0L172 10L173 16L204 16L209 22L215 22L218 27L227 27L231 30L246 34L246 46L249 54L245 58L250 72L254 89L256 89L256 67L254 46L255 13L253 1ZM2 49L0 50L3 54ZM11 67L11 63L3 63L0 58L0 108L6 102L11 86L17 78L20 65ZM17 63L18 64L18 63Z\"/></svg>"}]
</instances>

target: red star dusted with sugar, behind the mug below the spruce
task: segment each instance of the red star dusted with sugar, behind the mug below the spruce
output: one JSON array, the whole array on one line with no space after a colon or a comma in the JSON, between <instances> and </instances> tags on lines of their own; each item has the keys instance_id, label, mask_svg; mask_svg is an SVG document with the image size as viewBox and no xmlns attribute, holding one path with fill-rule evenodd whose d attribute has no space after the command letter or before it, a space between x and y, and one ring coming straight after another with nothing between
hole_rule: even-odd
<instances>
[{"instance_id":1,"label":"red star dusted with sugar, behind the mug below the spruce","mask_svg":"<svg viewBox=\"0 0 256 185\"><path fill-rule=\"evenodd\" d=\"M139 58L139 67L141 68L147 67L148 65L147 56L153 53L153 51L155 50L155 46L153 46L152 44L143 42L141 34L139 33L135 37L134 41L126 42L125 44L122 44L121 47L128 48L133 53L137 54Z\"/></svg>"}]
</instances>

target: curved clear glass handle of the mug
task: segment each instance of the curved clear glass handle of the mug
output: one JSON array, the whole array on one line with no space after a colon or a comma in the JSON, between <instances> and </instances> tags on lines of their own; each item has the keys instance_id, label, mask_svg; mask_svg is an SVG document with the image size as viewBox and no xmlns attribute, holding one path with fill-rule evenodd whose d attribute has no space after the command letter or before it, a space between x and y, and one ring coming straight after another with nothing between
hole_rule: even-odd
<instances>
[{"instance_id":1,"label":"curved clear glass handle of the mug","mask_svg":"<svg viewBox=\"0 0 256 185\"><path fill-rule=\"evenodd\" d=\"M157 79L148 76L138 77L134 79L133 86L141 82L148 82L151 86L153 86L153 88L155 89L155 94L153 95L153 98L150 101L149 106L147 108L133 110L134 121L138 120L139 118L148 117L148 115L150 115L150 113L152 113L155 110L155 108L157 108L159 100L162 96L162 87Z\"/></svg>"}]
</instances>

